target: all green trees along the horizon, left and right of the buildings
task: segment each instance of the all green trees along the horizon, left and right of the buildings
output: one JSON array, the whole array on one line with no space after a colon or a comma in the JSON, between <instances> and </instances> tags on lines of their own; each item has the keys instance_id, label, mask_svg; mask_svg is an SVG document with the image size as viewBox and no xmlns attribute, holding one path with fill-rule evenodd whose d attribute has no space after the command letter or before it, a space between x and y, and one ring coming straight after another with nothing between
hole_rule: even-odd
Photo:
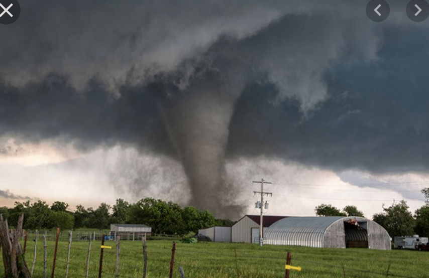
<instances>
[{"instance_id":1,"label":"all green trees along the horizon, left and right of the buildings","mask_svg":"<svg viewBox=\"0 0 429 278\"><path fill-rule=\"evenodd\" d=\"M418 234L429 236L429 188L421 191L425 204L414 214L409 210L406 201L402 200L389 207L382 206L381 213L374 214L372 220L383 226L390 236ZM212 226L232 226L233 221L216 219L210 212L194 207L184 207L173 202L165 202L154 198L144 198L136 203L117 199L111 206L101 203L96 209L77 205L70 211L65 202L56 201L51 206L38 200L16 202L13 208L0 207L0 214L8 218L11 226L15 226L18 218L24 213L25 229L63 230L76 228L108 229L110 224L145 224L152 227L154 234L184 235L196 233L198 229ZM360 216L362 211L356 206L346 206L340 210L330 204L321 204L315 208L318 216Z\"/></svg>"}]
</instances>

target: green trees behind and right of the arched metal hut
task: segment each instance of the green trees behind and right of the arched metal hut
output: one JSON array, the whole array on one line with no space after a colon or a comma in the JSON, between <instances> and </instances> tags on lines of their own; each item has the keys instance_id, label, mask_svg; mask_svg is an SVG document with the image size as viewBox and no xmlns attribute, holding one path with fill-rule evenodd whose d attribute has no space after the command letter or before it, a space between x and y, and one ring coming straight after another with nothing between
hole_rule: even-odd
<instances>
[{"instance_id":1,"label":"green trees behind and right of the arched metal hut","mask_svg":"<svg viewBox=\"0 0 429 278\"><path fill-rule=\"evenodd\" d=\"M383 211L372 216L372 220L386 229L391 237L409 236L418 234L429 237L429 188L421 190L426 198L425 204L415 210L414 214L409 210L406 201L393 203L389 207L382 206ZM330 204L321 204L315 207L314 212L318 216L360 216L362 211L356 206L346 206L340 210Z\"/></svg>"}]
</instances>

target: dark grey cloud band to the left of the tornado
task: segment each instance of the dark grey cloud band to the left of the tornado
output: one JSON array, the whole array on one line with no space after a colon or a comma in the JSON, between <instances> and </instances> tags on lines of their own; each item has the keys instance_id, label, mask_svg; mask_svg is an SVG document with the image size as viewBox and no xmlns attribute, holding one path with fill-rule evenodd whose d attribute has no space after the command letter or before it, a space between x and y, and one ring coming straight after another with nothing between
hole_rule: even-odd
<instances>
[{"instance_id":1,"label":"dark grey cloud band to the left of the tornado","mask_svg":"<svg viewBox=\"0 0 429 278\"><path fill-rule=\"evenodd\" d=\"M24 142L74 142L83 150L118 142L165 146L168 136L157 110L162 95L138 87L119 91L120 96L113 96L93 79L84 92L77 92L66 77L53 74L22 88L1 84L0 133ZM165 147L158 151L170 152Z\"/></svg>"}]
</instances>

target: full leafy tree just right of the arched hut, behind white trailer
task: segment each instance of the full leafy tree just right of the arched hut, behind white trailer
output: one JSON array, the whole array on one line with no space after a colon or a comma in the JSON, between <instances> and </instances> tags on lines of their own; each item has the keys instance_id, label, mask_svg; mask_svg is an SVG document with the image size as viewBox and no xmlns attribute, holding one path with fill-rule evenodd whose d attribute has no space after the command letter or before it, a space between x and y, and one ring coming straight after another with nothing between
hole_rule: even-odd
<instances>
[{"instance_id":1,"label":"full leafy tree just right of the arched hut, behind white trailer","mask_svg":"<svg viewBox=\"0 0 429 278\"><path fill-rule=\"evenodd\" d=\"M414 218L406 201L402 200L390 207L383 207L383 212L373 216L374 222L383 226L391 237L412 235Z\"/></svg>"}]
</instances>

